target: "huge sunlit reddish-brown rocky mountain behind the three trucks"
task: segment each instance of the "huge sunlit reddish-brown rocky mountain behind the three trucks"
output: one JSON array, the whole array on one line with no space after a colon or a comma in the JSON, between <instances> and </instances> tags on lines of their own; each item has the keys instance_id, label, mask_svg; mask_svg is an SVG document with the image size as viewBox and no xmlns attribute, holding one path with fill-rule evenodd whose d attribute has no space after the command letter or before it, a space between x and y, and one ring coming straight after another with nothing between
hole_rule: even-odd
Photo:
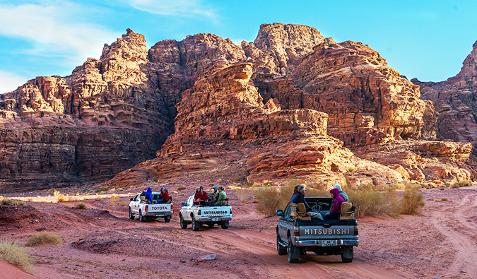
<instances>
[{"instance_id":1,"label":"huge sunlit reddish-brown rocky mountain behind the three trucks","mask_svg":"<svg viewBox=\"0 0 477 279\"><path fill-rule=\"evenodd\" d=\"M198 34L149 50L127 30L71 76L1 95L0 178L75 182L138 162L110 183L224 170L325 184L474 177L472 146L432 141L436 124L433 103L377 52L314 28L264 24L240 46Z\"/></svg>"}]
</instances>

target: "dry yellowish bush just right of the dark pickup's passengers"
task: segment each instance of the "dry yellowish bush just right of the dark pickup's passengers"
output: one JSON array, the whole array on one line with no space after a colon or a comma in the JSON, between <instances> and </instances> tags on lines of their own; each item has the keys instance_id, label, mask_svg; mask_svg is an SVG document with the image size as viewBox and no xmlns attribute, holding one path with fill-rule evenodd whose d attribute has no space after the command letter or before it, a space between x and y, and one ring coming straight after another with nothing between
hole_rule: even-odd
<instances>
[{"instance_id":1,"label":"dry yellowish bush just right of the dark pickup's passengers","mask_svg":"<svg viewBox=\"0 0 477 279\"><path fill-rule=\"evenodd\" d=\"M399 201L396 191L350 190L346 194L355 206L355 217L367 215L379 216L382 214L396 216L399 214Z\"/></svg>"}]
</instances>

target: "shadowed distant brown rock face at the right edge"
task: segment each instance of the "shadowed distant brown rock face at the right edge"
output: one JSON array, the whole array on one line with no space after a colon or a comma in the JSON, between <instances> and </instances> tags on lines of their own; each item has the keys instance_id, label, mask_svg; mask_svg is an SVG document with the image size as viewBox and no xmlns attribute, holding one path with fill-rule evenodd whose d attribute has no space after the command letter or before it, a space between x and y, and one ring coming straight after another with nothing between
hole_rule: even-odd
<instances>
[{"instance_id":1,"label":"shadowed distant brown rock face at the right edge","mask_svg":"<svg viewBox=\"0 0 477 279\"><path fill-rule=\"evenodd\" d=\"M435 103L440 136L477 146L477 42L457 76L439 83L412 81L423 99Z\"/></svg>"}]
</instances>

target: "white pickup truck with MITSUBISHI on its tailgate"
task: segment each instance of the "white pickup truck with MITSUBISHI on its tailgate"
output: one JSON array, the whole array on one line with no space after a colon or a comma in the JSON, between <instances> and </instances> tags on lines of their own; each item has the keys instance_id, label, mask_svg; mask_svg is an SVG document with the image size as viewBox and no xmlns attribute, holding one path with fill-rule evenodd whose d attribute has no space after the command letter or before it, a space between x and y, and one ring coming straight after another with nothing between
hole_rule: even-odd
<instances>
[{"instance_id":1,"label":"white pickup truck with MITSUBISHI on its tailgate","mask_svg":"<svg viewBox=\"0 0 477 279\"><path fill-rule=\"evenodd\" d=\"M192 230L199 230L201 225L208 227L220 225L224 230L228 229L229 221L232 220L232 206L197 206L194 205L194 196L189 196L179 211L180 227L187 229L192 223Z\"/></svg>"}]
</instances>

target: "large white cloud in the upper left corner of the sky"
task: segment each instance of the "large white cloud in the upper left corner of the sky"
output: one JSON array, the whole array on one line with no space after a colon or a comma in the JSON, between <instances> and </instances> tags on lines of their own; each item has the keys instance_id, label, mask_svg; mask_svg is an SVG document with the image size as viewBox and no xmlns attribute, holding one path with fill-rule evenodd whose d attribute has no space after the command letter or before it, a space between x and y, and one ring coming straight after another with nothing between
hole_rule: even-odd
<instances>
[{"instance_id":1,"label":"large white cloud in the upper left corner of the sky","mask_svg":"<svg viewBox=\"0 0 477 279\"><path fill-rule=\"evenodd\" d=\"M59 57L77 65L87 57L100 57L105 42L117 35L98 25L83 23L86 8L68 1L41 4L1 4L0 35L30 42L23 51L39 57Z\"/></svg>"}]
</instances>

